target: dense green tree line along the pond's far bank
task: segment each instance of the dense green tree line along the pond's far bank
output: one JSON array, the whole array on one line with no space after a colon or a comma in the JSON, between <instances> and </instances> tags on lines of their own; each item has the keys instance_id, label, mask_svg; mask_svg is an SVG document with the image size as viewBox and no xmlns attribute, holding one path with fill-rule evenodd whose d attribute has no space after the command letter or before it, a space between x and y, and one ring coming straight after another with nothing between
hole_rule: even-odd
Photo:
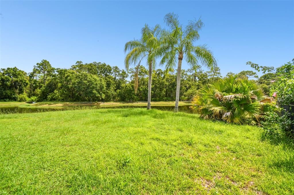
<instances>
[{"instance_id":1,"label":"dense green tree line along the pond's far bank","mask_svg":"<svg viewBox=\"0 0 294 195\"><path fill-rule=\"evenodd\" d=\"M0 70L1 101L147 101L148 70L130 68L128 73L101 62L77 61L69 69L54 68L49 61L37 63L26 73L16 67ZM174 101L176 74L152 71L153 101ZM190 100L199 86L220 78L220 69L200 66L181 71L180 100Z\"/></svg>"}]
</instances>

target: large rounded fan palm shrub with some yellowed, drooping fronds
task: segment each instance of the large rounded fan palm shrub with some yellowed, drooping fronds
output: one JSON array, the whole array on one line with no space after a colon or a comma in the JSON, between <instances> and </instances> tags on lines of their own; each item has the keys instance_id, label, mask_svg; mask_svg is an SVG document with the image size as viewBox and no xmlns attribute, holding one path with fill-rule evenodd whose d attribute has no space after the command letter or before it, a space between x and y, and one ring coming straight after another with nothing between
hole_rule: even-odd
<instances>
[{"instance_id":1,"label":"large rounded fan palm shrub with some yellowed, drooping fronds","mask_svg":"<svg viewBox=\"0 0 294 195\"><path fill-rule=\"evenodd\" d=\"M263 118L263 105L272 100L255 81L231 75L201 87L190 108L204 119L259 124Z\"/></svg>"}]
</instances>

